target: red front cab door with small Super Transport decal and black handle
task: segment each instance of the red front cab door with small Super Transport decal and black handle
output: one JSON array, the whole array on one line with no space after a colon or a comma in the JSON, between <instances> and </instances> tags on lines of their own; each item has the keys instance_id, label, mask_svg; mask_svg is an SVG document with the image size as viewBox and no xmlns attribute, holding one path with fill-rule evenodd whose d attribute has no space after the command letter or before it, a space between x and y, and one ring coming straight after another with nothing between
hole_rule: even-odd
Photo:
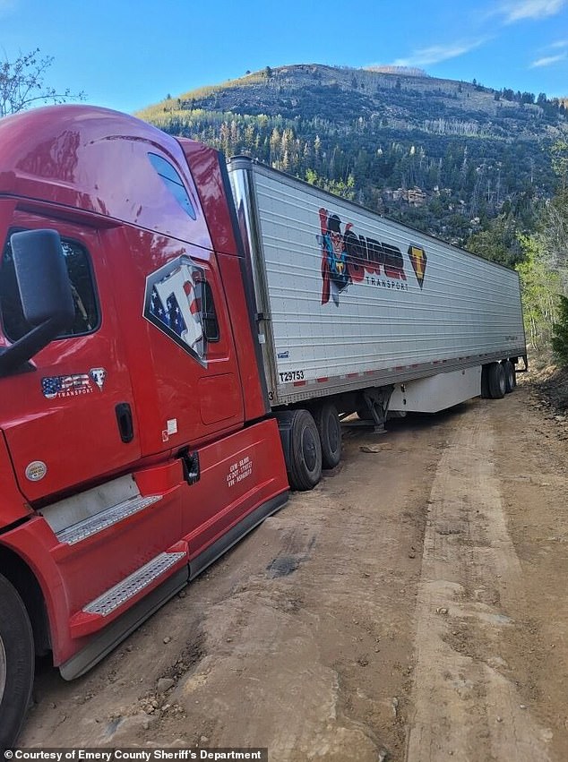
<instances>
[{"instance_id":1,"label":"red front cab door with small Super Transport decal and black handle","mask_svg":"<svg viewBox=\"0 0 568 762\"><path fill-rule=\"evenodd\" d=\"M15 341L26 325L19 301L10 235L56 229L73 288L70 330L32 358L30 367L2 381L5 436L18 483L29 501L124 469L140 457L133 392L125 363L113 282L108 230L16 212L0 263L0 317Z\"/></svg>"}]
</instances>

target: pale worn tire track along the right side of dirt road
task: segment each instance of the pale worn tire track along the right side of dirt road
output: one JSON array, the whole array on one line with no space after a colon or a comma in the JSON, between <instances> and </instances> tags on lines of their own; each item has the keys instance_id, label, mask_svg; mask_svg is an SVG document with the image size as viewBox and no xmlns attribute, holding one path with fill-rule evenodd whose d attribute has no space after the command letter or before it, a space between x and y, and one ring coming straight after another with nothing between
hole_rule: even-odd
<instances>
[{"instance_id":1,"label":"pale worn tire track along the right side of dirt road","mask_svg":"<svg viewBox=\"0 0 568 762\"><path fill-rule=\"evenodd\" d=\"M522 704L500 647L527 604L495 475L491 403L481 404L475 421L457 422L430 494L408 762L549 759L549 732Z\"/></svg>"}]
</instances>

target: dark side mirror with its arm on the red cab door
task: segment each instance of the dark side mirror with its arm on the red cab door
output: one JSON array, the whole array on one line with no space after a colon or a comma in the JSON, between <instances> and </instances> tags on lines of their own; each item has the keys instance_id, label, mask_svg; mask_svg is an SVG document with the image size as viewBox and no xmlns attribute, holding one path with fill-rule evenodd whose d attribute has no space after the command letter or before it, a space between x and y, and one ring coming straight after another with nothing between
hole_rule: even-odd
<instances>
[{"instance_id":1,"label":"dark side mirror with its arm on the red cab door","mask_svg":"<svg viewBox=\"0 0 568 762\"><path fill-rule=\"evenodd\" d=\"M75 308L61 238L56 230L10 236L13 266L26 321L35 326L0 354L0 374L16 372L73 324Z\"/></svg>"}]
</instances>

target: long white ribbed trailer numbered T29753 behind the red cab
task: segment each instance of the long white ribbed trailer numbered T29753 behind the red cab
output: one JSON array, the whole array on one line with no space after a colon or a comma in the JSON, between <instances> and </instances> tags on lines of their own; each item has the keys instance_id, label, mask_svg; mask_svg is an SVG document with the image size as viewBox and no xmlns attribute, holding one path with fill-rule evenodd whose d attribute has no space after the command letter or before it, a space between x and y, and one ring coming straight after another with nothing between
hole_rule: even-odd
<instances>
[{"instance_id":1,"label":"long white ribbed trailer numbered T29753 behind the red cab","mask_svg":"<svg viewBox=\"0 0 568 762\"><path fill-rule=\"evenodd\" d=\"M322 436L322 407L328 424L332 406L381 425L513 389L526 368L514 270L249 158L228 171L275 410L312 409Z\"/></svg>"}]
</instances>

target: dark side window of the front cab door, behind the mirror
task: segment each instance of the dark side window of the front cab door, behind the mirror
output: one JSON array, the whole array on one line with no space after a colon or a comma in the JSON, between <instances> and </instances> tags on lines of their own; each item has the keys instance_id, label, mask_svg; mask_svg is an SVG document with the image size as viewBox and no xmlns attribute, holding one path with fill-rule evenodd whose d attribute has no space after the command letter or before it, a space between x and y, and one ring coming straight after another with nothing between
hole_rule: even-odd
<instances>
[{"instance_id":1,"label":"dark side window of the front cab door, behind the mirror","mask_svg":"<svg viewBox=\"0 0 568 762\"><path fill-rule=\"evenodd\" d=\"M10 231L10 235L14 232L16 231ZM0 317L4 336L10 341L17 341L29 333L33 326L23 315L20 291L13 267L10 235L4 245L0 265ZM68 338L96 330L99 327L99 309L87 252L82 245L74 241L62 240L61 244L73 292L75 316L71 328L61 333L58 338Z\"/></svg>"}]
</instances>

